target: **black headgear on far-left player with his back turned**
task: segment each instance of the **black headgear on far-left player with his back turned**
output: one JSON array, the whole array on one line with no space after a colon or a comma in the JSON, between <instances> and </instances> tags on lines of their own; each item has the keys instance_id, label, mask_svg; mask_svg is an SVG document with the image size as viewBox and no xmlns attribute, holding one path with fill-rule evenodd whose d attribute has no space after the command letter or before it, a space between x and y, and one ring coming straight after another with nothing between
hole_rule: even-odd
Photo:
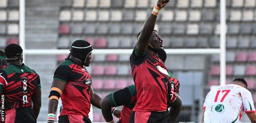
<instances>
[{"instance_id":1,"label":"black headgear on far-left player with his back turned","mask_svg":"<svg viewBox=\"0 0 256 123\"><path fill-rule=\"evenodd\" d=\"M22 56L22 48L18 44L11 43L5 47L5 56L7 62L18 60Z\"/></svg>"}]
</instances>

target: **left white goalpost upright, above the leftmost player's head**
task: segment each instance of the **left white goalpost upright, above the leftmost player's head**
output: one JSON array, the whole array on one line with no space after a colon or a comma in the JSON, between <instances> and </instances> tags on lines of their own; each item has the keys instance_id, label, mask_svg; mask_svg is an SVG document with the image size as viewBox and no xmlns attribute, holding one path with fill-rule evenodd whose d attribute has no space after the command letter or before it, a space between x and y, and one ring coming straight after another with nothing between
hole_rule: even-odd
<instances>
[{"instance_id":1,"label":"left white goalpost upright, above the leftmost player's head","mask_svg":"<svg viewBox=\"0 0 256 123\"><path fill-rule=\"evenodd\" d=\"M25 0L20 0L20 6L19 6L19 42L20 46L23 49L23 63L25 63Z\"/></svg>"}]
</instances>

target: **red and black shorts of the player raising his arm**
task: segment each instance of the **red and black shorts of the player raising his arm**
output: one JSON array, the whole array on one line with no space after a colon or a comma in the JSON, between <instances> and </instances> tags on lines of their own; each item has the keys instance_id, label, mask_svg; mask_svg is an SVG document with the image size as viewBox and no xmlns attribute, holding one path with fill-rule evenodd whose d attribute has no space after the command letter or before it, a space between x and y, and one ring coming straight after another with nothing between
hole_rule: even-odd
<instances>
[{"instance_id":1,"label":"red and black shorts of the player raising his arm","mask_svg":"<svg viewBox=\"0 0 256 123\"><path fill-rule=\"evenodd\" d=\"M171 123L168 112L132 112L130 123Z\"/></svg>"}]
</instances>

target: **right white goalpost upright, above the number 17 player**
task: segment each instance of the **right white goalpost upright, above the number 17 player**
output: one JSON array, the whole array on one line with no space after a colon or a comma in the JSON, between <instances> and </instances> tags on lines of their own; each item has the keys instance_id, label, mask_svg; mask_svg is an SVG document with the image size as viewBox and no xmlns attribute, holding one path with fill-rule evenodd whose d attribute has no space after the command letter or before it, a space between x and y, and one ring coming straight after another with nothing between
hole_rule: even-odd
<instances>
[{"instance_id":1,"label":"right white goalpost upright, above the number 17 player","mask_svg":"<svg viewBox=\"0 0 256 123\"><path fill-rule=\"evenodd\" d=\"M220 85L226 84L226 0L220 0Z\"/></svg>"}]
</instances>

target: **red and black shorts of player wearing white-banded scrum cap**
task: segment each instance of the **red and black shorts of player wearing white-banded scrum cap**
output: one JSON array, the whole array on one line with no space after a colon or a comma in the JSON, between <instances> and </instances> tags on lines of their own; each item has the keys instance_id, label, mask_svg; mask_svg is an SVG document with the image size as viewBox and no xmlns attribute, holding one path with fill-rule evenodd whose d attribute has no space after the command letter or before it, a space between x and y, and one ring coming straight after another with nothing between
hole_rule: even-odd
<instances>
[{"instance_id":1,"label":"red and black shorts of player wearing white-banded scrum cap","mask_svg":"<svg viewBox=\"0 0 256 123\"><path fill-rule=\"evenodd\" d=\"M59 116L59 123L91 123L91 120L82 115L62 115Z\"/></svg>"}]
</instances>

